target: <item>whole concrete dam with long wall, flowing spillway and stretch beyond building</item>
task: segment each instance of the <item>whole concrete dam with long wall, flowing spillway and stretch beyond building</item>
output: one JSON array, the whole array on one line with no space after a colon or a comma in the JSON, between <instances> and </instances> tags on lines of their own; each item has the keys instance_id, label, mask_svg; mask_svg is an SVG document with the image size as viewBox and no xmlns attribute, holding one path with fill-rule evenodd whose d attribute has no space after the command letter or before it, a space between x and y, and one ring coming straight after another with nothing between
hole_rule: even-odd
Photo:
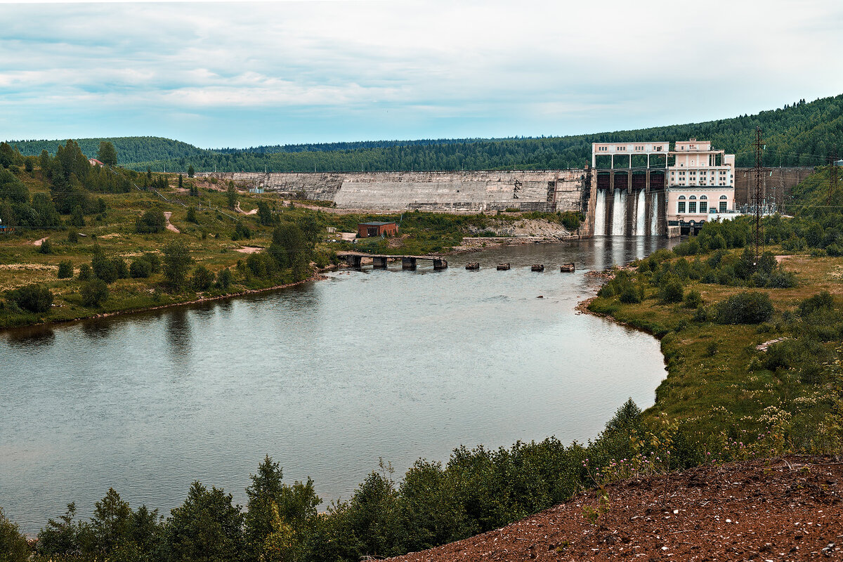
<instances>
[{"instance_id":1,"label":"whole concrete dam with long wall, flowing spillway and stretch beyond building","mask_svg":"<svg viewBox=\"0 0 843 562\"><path fill-rule=\"evenodd\" d=\"M748 197L749 170L736 169L736 202ZM812 169L774 169L766 191L783 200ZM332 201L351 211L582 211L583 236L663 235L668 185L663 172L631 174L622 185L605 170L474 172L204 172L241 187L279 195ZM610 183L611 182L611 183ZM626 182L629 185L626 185ZM770 195L770 194L768 194Z\"/></svg>"}]
</instances>

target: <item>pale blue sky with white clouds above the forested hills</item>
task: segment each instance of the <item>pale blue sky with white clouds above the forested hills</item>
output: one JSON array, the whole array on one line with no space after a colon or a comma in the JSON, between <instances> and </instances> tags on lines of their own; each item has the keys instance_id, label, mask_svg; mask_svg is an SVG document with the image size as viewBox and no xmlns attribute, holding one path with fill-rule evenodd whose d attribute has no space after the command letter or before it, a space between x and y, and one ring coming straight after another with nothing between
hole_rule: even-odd
<instances>
[{"instance_id":1,"label":"pale blue sky with white clouds above the forested hills","mask_svg":"<svg viewBox=\"0 0 843 562\"><path fill-rule=\"evenodd\" d=\"M843 94L839 0L3 3L0 139L560 136Z\"/></svg>"}]
</instances>

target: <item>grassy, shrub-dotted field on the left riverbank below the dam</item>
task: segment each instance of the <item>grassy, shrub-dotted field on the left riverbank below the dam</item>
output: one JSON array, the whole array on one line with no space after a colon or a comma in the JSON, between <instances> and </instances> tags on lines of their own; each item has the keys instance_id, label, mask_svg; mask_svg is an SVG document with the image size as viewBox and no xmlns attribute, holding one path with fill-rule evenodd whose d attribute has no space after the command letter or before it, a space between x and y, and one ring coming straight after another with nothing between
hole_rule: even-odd
<instances>
[{"instance_id":1,"label":"grassy, shrub-dotted field on the left riverbank below the dam","mask_svg":"<svg viewBox=\"0 0 843 562\"><path fill-rule=\"evenodd\" d=\"M27 173L18 170L16 177L30 191L30 198L38 193L50 195L50 183L35 168ZM152 174L152 179L158 174ZM142 179L142 178L141 178ZM244 268L250 253L267 249L272 242L273 229L285 222L309 221L318 229L315 265L324 266L335 260L338 251L355 249L382 254L430 254L453 249L468 233L481 232L492 224L513 222L521 217L541 218L547 222L572 220L561 213L524 213L486 217L483 215L448 215L431 212L405 214L337 213L308 205L307 201L283 201L279 195L250 194L247 185L237 186L238 211L230 208L223 182L207 179L183 179L179 189L178 176L170 174L169 185L158 190L132 188L127 193L92 193L101 200L105 211L85 217L85 226L69 227L70 217L62 217L62 227L51 229L18 229L0 236L0 296L22 286L42 284L54 296L51 309L46 313L28 313L13 306L3 306L0 299L0 328L86 318L102 313L159 307L178 302L191 302L200 298L219 297L244 291L254 291L279 286L293 281L282 272L271 279L251 276ZM151 183L151 181L150 181ZM136 184L137 185L137 184ZM191 187L196 188L191 195ZM255 213L260 203L271 210L271 221L261 225ZM188 220L188 211L196 210L196 221ZM158 233L137 233L137 217L146 211L159 209L169 214L169 223L178 232L164 230ZM400 223L400 236L358 240L358 244L342 241L339 233L356 233L358 222L373 220ZM577 220L574 217L574 220ZM250 238L235 236L235 226L242 222L250 230ZM265 221L266 222L266 221ZM329 233L329 227L337 233ZM69 235L78 233L76 241ZM237 238L237 239L233 239ZM38 245L48 241L49 253ZM100 251L109 259L122 259L126 265L143 254L162 254L162 249L180 240L189 249L193 266L204 265L212 273L228 268L234 282L224 289L214 288L196 292L170 292L161 273L148 278L118 279L110 283L110 296L99 307L86 307L80 289L84 281L78 279L79 268L90 264L95 252ZM72 279L57 277L59 264L69 260L73 266Z\"/></svg>"}]
</instances>

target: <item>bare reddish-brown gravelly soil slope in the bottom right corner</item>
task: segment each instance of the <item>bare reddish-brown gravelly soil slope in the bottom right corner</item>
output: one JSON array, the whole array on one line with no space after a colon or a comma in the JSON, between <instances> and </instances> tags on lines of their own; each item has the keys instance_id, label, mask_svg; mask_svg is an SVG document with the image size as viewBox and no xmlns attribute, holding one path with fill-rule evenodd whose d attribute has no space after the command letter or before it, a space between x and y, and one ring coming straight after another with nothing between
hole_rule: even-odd
<instances>
[{"instance_id":1,"label":"bare reddish-brown gravelly soil slope in the bottom right corner","mask_svg":"<svg viewBox=\"0 0 843 562\"><path fill-rule=\"evenodd\" d=\"M489 533L393 560L843 559L843 463L787 457L693 468L605 488L589 522L570 501Z\"/></svg>"}]
</instances>

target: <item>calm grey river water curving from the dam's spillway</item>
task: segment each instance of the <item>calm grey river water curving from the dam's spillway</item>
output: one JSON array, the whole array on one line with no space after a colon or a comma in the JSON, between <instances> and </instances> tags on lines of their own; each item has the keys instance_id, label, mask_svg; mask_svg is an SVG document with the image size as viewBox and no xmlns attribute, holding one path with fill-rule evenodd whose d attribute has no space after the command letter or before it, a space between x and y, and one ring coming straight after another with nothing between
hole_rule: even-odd
<instances>
[{"instance_id":1,"label":"calm grey river water curving from the dam's spillway","mask_svg":"<svg viewBox=\"0 0 843 562\"><path fill-rule=\"evenodd\" d=\"M587 440L627 398L651 405L666 373L658 341L575 313L583 273L664 244L530 244L0 333L0 506L34 534L70 501L89 516L109 487L164 513L196 479L243 503L267 453L327 504L379 458L400 476L460 444Z\"/></svg>"}]
</instances>

